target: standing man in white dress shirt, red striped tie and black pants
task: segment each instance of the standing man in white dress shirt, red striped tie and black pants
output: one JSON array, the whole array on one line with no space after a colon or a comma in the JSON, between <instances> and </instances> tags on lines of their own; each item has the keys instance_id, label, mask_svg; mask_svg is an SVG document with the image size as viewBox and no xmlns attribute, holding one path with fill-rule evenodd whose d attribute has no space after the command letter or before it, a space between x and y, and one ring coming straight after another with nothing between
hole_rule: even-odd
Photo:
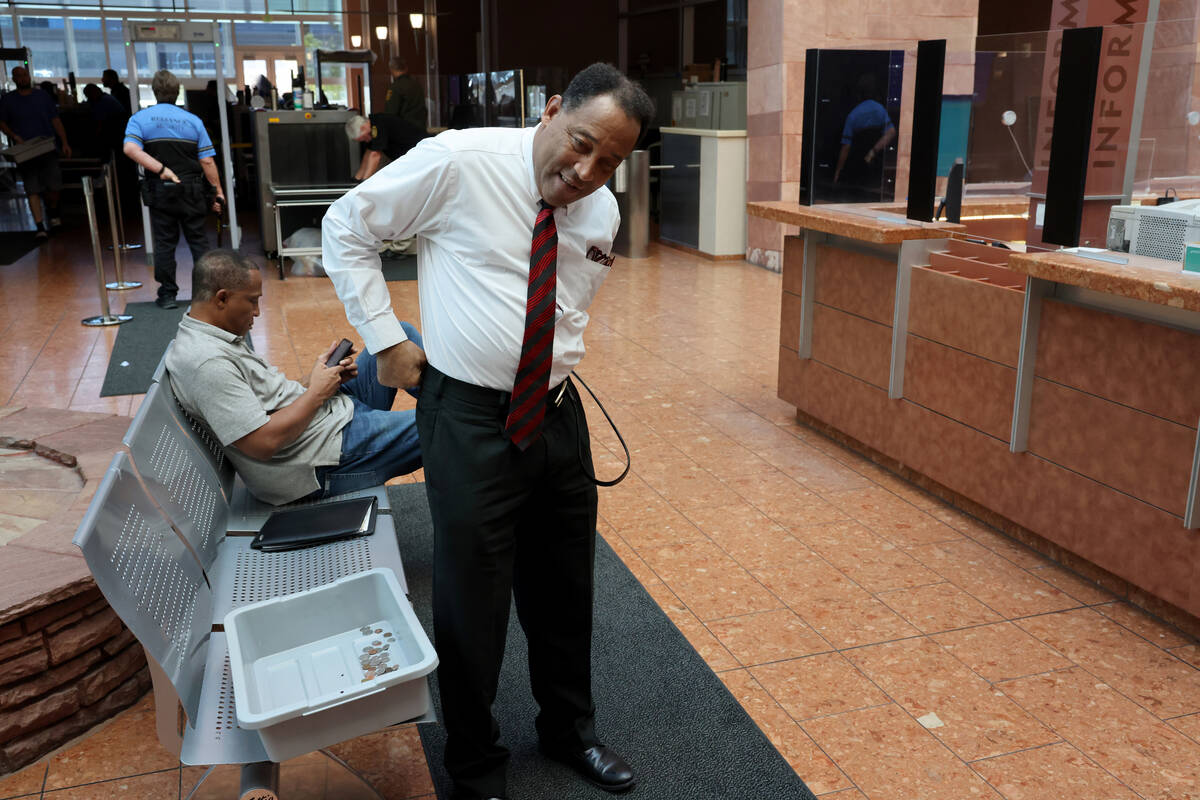
<instances>
[{"instance_id":1,"label":"standing man in white dress shirt, red striped tie and black pants","mask_svg":"<svg viewBox=\"0 0 1200 800\"><path fill-rule=\"evenodd\" d=\"M323 263L384 384L421 379L433 624L456 799L503 798L492 716L510 599L529 639L541 750L610 792L630 766L596 736L596 488L568 375L620 223L604 187L654 114L616 68L580 72L536 128L448 131L335 203ZM426 351L406 339L378 245L416 236ZM427 356L427 361L426 361ZM515 397L514 397L515 395Z\"/></svg>"}]
</instances>

